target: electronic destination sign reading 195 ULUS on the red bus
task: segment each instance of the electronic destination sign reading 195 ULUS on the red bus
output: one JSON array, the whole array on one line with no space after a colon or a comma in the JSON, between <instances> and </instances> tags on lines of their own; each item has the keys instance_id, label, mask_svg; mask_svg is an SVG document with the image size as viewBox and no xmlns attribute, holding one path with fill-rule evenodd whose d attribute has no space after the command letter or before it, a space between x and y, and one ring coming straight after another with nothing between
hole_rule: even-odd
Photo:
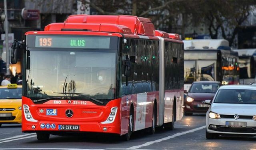
<instances>
[{"instance_id":1,"label":"electronic destination sign reading 195 ULUS on the red bus","mask_svg":"<svg viewBox=\"0 0 256 150\"><path fill-rule=\"evenodd\" d=\"M36 36L38 48L110 48L110 37Z\"/></svg>"}]
</instances>

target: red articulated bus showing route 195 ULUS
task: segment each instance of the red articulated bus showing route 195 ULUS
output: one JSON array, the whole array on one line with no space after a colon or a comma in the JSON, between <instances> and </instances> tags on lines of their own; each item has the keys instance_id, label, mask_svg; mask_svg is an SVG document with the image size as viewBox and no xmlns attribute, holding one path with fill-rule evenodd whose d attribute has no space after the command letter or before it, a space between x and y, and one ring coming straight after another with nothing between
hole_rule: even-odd
<instances>
[{"instance_id":1,"label":"red articulated bus showing route 195 ULUS","mask_svg":"<svg viewBox=\"0 0 256 150\"><path fill-rule=\"evenodd\" d=\"M26 43L26 44L25 44ZM183 116L184 50L148 18L72 15L14 42L23 50L22 132L122 135Z\"/></svg>"}]
</instances>

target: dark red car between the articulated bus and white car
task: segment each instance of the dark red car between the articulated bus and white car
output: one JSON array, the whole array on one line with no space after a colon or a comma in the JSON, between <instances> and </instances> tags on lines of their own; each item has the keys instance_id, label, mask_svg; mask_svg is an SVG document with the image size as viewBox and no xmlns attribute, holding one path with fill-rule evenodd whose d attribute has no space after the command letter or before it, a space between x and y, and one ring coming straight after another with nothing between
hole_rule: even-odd
<instances>
[{"instance_id":1,"label":"dark red car between the articulated bus and white car","mask_svg":"<svg viewBox=\"0 0 256 150\"><path fill-rule=\"evenodd\" d=\"M193 82L184 100L185 115L192 115L194 112L206 113L209 105L204 104L204 100L212 100L220 86L221 83L217 81Z\"/></svg>"}]
</instances>

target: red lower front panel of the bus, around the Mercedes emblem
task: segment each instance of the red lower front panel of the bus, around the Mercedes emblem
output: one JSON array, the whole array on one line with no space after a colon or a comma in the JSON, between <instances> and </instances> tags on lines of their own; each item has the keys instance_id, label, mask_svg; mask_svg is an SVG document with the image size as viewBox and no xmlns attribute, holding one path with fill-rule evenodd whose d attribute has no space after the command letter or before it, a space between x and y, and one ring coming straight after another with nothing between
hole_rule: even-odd
<instances>
[{"instance_id":1,"label":"red lower front panel of the bus, around the Mercedes emblem","mask_svg":"<svg viewBox=\"0 0 256 150\"><path fill-rule=\"evenodd\" d=\"M86 101L86 105L74 105L68 104L68 100L60 100L61 104L54 104L56 100L50 100L43 104L34 104L32 100L22 96L22 105L26 104L30 107L32 117L38 122L29 122L25 118L24 111L22 110L22 132L35 132L35 131L47 131L54 132L59 131L58 125L80 125L80 132L105 132L103 128L106 127L108 130L105 133L120 134L120 102L121 99L111 100L106 106L98 106L90 101ZM72 100L71 100L72 101ZM116 118L111 124L101 124L104 122L110 114L112 107L118 107ZM39 110L43 109L44 112ZM56 116L46 116L46 109L56 109ZM74 112L74 117L67 118L65 111L71 109ZM88 113L86 113L88 112ZM90 113L96 112L96 113ZM40 124L55 124L55 129L42 129ZM32 125L36 126L32 129ZM67 131L68 132L68 131Z\"/></svg>"}]
</instances>

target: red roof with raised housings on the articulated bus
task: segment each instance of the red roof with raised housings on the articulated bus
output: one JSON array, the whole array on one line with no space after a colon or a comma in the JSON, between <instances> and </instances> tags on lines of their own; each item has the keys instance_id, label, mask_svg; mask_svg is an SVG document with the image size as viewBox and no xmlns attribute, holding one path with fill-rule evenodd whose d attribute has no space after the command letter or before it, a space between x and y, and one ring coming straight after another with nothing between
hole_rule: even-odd
<instances>
[{"instance_id":1,"label":"red roof with raised housings on the articulated bus","mask_svg":"<svg viewBox=\"0 0 256 150\"><path fill-rule=\"evenodd\" d=\"M160 36L183 44L179 34L155 30L150 19L128 15L71 15L63 23L48 24L44 31L25 33L28 34L107 35L150 40L159 40Z\"/></svg>"}]
</instances>

